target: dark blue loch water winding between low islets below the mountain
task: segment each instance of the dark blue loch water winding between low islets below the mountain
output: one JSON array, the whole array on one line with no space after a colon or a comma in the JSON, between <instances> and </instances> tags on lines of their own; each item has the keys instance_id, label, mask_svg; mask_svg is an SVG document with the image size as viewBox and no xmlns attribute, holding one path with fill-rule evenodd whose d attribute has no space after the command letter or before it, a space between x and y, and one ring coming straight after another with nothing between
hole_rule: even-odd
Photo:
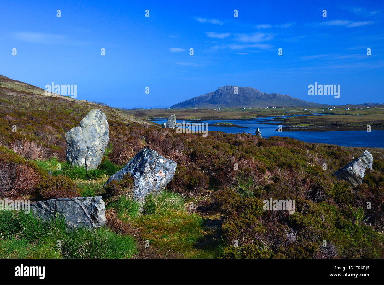
<instances>
[{"instance_id":1,"label":"dark blue loch water winding between low islets below the mountain","mask_svg":"<svg viewBox=\"0 0 384 285\"><path fill-rule=\"evenodd\" d=\"M279 116L286 118L290 116ZM257 128L262 132L263 138L270 136L281 136L298 139L307 143L326 143L337 144L339 146L361 146L361 147L384 147L384 131L375 130L374 128L368 133L366 130L362 131L329 131L329 132L316 132L316 131L283 131L278 132L276 124L260 124L260 122L268 122L273 117L260 117L255 119L233 119L233 120L207 120L198 121L199 123L215 124L219 122L228 122L242 126L239 127L208 127L208 131L221 131L228 134L237 133L252 133L255 134ZM153 119L154 123L162 124L167 123L166 119ZM195 120L185 120L185 123L197 122ZM276 122L276 121L274 121ZM183 120L177 120L176 123L183 123ZM281 124L282 126L286 126Z\"/></svg>"}]
</instances>

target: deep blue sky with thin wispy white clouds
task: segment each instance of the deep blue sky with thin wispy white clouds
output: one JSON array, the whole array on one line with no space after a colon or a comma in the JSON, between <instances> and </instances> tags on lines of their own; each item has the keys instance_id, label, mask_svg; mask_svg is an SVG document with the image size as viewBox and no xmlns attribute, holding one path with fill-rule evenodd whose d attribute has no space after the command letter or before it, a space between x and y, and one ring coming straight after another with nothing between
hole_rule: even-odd
<instances>
[{"instance_id":1,"label":"deep blue sky with thin wispy white clouds","mask_svg":"<svg viewBox=\"0 0 384 285\"><path fill-rule=\"evenodd\" d=\"M169 107L224 85L384 102L383 1L159 2L3 1L0 74L77 85L77 99L124 108ZM315 82L340 85L340 98L309 96Z\"/></svg>"}]
</instances>

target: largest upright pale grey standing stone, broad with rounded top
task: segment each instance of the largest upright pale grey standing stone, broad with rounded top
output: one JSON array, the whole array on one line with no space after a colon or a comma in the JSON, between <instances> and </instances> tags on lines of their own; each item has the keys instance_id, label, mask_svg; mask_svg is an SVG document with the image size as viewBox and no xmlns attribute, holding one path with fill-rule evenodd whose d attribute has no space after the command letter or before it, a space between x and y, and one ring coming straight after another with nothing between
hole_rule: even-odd
<instances>
[{"instance_id":1,"label":"largest upright pale grey standing stone, broad with rounded top","mask_svg":"<svg viewBox=\"0 0 384 285\"><path fill-rule=\"evenodd\" d=\"M101 163L109 141L107 116L99 109L93 109L81 120L78 127L65 133L65 158L72 165L95 169Z\"/></svg>"}]
</instances>

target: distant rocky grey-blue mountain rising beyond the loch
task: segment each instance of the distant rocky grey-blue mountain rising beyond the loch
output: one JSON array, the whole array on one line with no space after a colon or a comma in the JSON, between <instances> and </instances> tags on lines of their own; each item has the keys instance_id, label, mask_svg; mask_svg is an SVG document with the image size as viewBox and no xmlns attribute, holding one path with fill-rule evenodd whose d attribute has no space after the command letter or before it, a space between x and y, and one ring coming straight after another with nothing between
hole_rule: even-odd
<instances>
[{"instance_id":1,"label":"distant rocky grey-blue mountain rising beyond the loch","mask_svg":"<svg viewBox=\"0 0 384 285\"><path fill-rule=\"evenodd\" d=\"M288 95L278 93L263 93L251 87L238 87L238 94L234 93L235 86L227 85L216 91L194 97L170 108L204 108L204 107L295 107L295 106L326 106L312 103Z\"/></svg>"}]
</instances>

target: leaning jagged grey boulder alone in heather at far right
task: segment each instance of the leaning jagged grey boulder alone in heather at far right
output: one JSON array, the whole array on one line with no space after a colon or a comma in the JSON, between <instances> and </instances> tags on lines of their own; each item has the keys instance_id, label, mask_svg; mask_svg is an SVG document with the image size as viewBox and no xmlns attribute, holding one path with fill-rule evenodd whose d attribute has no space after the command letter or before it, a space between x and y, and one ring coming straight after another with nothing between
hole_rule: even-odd
<instances>
[{"instance_id":1,"label":"leaning jagged grey boulder alone in heather at far right","mask_svg":"<svg viewBox=\"0 0 384 285\"><path fill-rule=\"evenodd\" d=\"M349 162L346 166L334 172L332 175L338 179L349 182L353 187L362 184L365 169L372 170L373 157L368 151L354 161Z\"/></svg>"}]
</instances>

